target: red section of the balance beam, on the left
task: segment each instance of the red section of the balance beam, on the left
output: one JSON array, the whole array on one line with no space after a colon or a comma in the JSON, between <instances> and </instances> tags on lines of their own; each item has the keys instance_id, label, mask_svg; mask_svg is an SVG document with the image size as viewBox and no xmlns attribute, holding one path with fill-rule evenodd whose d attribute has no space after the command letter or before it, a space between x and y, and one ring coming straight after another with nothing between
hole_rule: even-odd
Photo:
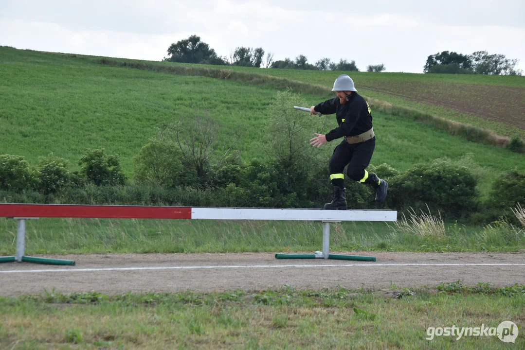
<instances>
[{"instance_id":1,"label":"red section of the balance beam, on the left","mask_svg":"<svg viewBox=\"0 0 525 350\"><path fill-rule=\"evenodd\" d=\"M192 208L123 205L0 204L0 217L191 219Z\"/></svg>"}]
</instances>

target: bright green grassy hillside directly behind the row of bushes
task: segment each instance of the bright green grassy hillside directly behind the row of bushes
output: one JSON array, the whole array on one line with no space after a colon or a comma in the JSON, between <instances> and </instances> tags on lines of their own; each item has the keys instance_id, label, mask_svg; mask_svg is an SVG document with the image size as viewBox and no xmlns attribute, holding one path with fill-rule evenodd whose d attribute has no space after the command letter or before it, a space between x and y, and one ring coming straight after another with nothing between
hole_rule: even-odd
<instances>
[{"instance_id":1,"label":"bright green grassy hillside directly behind the row of bushes","mask_svg":"<svg viewBox=\"0 0 525 350\"><path fill-rule=\"evenodd\" d=\"M328 86L334 76L334 72L265 72ZM356 82L366 86L362 77L367 74L361 73ZM193 119L197 114L216 120L220 139L225 145L236 140L235 149L245 160L267 156L266 107L277 89L265 84L262 78L254 85L114 67L89 58L7 47L0 48L0 75L0 153L23 155L31 164L53 152L70 160L71 168L75 169L87 148L104 147L109 153L119 154L124 171L132 175L133 157L156 134L157 126ZM316 78L304 78L310 75ZM409 80L412 76L415 75L399 77ZM370 81L381 85L392 77L396 76L381 73L370 75ZM465 77L475 81L473 77ZM439 87L439 77L431 78ZM492 81L490 78L494 78L495 86L522 89L521 77L517 77L518 80L510 79L516 77L482 77L477 84L483 86ZM363 88L360 92L367 91ZM327 98L327 94L302 94L302 98L316 104ZM373 164L388 163L405 170L414 163L433 158L461 160L471 154L484 174L481 187L486 188L503 171L513 167L525 170L522 154L468 142L399 116L376 111L372 114L377 134ZM328 118L333 128L335 120L333 116ZM327 161L334 146L331 143L320 149Z\"/></svg>"}]
</instances>

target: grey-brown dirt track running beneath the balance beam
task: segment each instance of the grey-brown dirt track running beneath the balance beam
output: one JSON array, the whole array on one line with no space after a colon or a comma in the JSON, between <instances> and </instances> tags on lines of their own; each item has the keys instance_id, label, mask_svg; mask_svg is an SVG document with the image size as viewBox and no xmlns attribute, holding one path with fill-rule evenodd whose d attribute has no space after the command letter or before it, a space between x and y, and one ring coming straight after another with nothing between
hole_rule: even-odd
<instances>
[{"instance_id":1,"label":"grey-brown dirt track running beneath the balance beam","mask_svg":"<svg viewBox=\"0 0 525 350\"><path fill-rule=\"evenodd\" d=\"M261 290L283 284L310 289L338 285L351 289L362 286L380 289L389 288L391 284L397 288L434 287L442 282L456 280L466 285L490 283L493 287L525 284L525 252L340 253L374 256L377 261L275 259L272 253L46 256L75 260L77 265L49 266L25 262L0 264L0 295L38 294L44 288L50 290L53 287L62 293L95 290L120 294L188 289L199 292ZM472 263L488 265L464 265Z\"/></svg>"}]
</instances>

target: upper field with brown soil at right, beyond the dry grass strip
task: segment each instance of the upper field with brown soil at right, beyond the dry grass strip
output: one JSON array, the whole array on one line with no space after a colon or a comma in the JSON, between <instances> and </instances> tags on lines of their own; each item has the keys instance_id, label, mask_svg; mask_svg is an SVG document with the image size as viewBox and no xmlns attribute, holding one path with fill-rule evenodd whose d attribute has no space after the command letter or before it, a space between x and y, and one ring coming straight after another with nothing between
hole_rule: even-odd
<instances>
[{"instance_id":1,"label":"upper field with brown soil at right, beyond the dry grass strip","mask_svg":"<svg viewBox=\"0 0 525 350\"><path fill-rule=\"evenodd\" d=\"M82 59L100 60L104 58L82 56ZM192 67L193 69L241 71L316 84L327 89L331 88L334 78L340 73L348 73L184 65L183 63L131 59L118 59L118 62L139 63L155 67L155 69ZM519 135L525 139L523 119L525 77L369 72L351 72L351 75L356 82L356 87L365 97L491 129L503 136Z\"/></svg>"}]
</instances>

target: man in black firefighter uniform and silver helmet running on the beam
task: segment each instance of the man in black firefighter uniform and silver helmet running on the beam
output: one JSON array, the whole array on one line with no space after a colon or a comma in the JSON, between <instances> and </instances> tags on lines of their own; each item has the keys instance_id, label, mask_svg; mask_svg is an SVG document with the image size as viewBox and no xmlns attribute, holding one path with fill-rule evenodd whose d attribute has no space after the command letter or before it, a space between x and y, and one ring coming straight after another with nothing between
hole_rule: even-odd
<instances>
[{"instance_id":1,"label":"man in black firefighter uniform and silver helmet running on the beam","mask_svg":"<svg viewBox=\"0 0 525 350\"><path fill-rule=\"evenodd\" d=\"M372 186L375 190L375 200L379 203L386 197L388 183L375 173L366 171L375 148L370 106L358 94L352 78L346 74L335 79L332 91L337 92L337 97L310 107L310 115L335 113L339 125L328 134L316 133L316 137L310 140L312 146L320 147L343 137L341 143L335 147L329 163L333 200L323 208L348 209L343 174L347 164L348 176L353 181Z\"/></svg>"}]
</instances>

